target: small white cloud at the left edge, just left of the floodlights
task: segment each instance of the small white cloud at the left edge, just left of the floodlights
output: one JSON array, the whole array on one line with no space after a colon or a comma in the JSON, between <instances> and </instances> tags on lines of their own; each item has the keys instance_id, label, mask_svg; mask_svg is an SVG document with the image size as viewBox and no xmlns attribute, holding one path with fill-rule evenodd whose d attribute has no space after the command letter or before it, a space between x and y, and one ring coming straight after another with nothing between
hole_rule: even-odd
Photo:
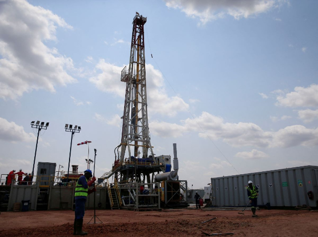
<instances>
[{"instance_id":1,"label":"small white cloud at the left edge, just left of the floodlights","mask_svg":"<svg viewBox=\"0 0 318 237\"><path fill-rule=\"evenodd\" d=\"M33 142L36 137L33 133L26 133L23 126L17 125L15 122L9 122L6 119L0 118L0 139L10 142ZM39 138L41 140L41 138Z\"/></svg>"}]
</instances>

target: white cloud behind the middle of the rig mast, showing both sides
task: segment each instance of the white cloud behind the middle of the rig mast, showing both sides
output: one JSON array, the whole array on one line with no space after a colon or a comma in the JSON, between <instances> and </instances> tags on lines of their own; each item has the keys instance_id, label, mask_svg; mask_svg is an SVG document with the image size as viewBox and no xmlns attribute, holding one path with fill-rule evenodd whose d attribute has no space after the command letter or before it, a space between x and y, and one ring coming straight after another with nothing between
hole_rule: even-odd
<instances>
[{"instance_id":1,"label":"white cloud behind the middle of the rig mast, showing both sides","mask_svg":"<svg viewBox=\"0 0 318 237\"><path fill-rule=\"evenodd\" d=\"M120 81L123 67L118 67L101 59L96 70L101 73L91 77L89 81L107 93L125 97L126 84ZM179 111L186 111L189 105L180 97L169 97L166 94L162 74L153 65L146 64L148 114L162 114L173 117ZM122 109L122 108L121 108Z\"/></svg>"}]
</instances>

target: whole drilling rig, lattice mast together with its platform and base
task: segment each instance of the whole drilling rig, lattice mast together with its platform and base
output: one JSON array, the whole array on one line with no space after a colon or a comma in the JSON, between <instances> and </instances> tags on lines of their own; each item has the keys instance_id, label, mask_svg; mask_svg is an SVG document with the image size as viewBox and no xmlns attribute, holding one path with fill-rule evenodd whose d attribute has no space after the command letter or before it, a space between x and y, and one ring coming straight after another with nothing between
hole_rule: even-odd
<instances>
[{"instance_id":1,"label":"whole drilling rig, lattice mast together with its platform and base","mask_svg":"<svg viewBox=\"0 0 318 237\"><path fill-rule=\"evenodd\" d=\"M101 177L107 180L107 186L110 187L112 185L109 185L108 179L111 176L114 177L114 189L116 190L112 191L109 187L108 193L111 194L109 199L112 199L110 203L112 201L116 202L118 199L118 206L121 206L121 203L125 206L125 197L128 197L127 205L133 206L135 204L137 208L141 198L143 201L139 207L156 206L154 203L160 203L160 199L162 200L160 191L164 190L162 187L160 189L160 182L178 179L176 144L173 144L174 170L171 171L171 156L160 155L155 157L150 141L144 40L144 25L146 22L147 17L136 12L133 19L129 66L128 70L125 66L121 71L120 79L126 83L121 143L114 150L115 161L112 169ZM125 158L127 154L128 157ZM177 181L177 183L180 182ZM148 187L149 192L145 194L148 195L148 199L143 196L144 194L139 189L141 186L143 188ZM179 202L180 188L178 190L178 193L174 196L178 196ZM139 201L138 197L140 198Z\"/></svg>"}]
</instances>

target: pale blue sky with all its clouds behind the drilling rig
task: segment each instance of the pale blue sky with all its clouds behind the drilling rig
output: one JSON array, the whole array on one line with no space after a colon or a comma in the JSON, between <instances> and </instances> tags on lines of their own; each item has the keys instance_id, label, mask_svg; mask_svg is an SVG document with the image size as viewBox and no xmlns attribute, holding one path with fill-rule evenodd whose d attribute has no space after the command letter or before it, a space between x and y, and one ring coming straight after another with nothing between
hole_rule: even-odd
<instances>
[{"instance_id":1,"label":"pale blue sky with all its clouds behind the drilling rig","mask_svg":"<svg viewBox=\"0 0 318 237\"><path fill-rule=\"evenodd\" d=\"M318 165L318 1L0 0L0 173L37 162L111 169L120 143L132 21L147 17L156 155L177 144L179 179ZM151 56L153 55L153 57ZM93 168L91 166L91 168ZM2 177L3 179L3 177Z\"/></svg>"}]
</instances>

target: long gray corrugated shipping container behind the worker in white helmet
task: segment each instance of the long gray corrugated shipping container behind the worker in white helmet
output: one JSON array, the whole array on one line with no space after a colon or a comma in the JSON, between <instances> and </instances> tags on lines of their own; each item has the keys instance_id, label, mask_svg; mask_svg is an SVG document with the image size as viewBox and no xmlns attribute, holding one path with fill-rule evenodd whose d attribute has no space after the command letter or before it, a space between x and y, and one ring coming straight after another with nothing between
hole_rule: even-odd
<instances>
[{"instance_id":1,"label":"long gray corrugated shipping container behind the worker in white helmet","mask_svg":"<svg viewBox=\"0 0 318 237\"><path fill-rule=\"evenodd\" d=\"M211 178L215 206L246 206L246 187L258 186L258 205L273 207L318 206L318 166L302 166L235 176ZM307 193L312 191L314 199Z\"/></svg>"}]
</instances>

